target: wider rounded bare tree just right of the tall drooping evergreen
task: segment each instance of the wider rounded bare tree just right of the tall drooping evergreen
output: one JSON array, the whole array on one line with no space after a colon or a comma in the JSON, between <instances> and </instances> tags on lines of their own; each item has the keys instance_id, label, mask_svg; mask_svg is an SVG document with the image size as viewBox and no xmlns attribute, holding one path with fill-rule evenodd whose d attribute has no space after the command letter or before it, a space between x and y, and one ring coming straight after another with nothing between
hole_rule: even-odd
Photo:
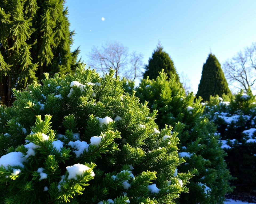
<instances>
[{"instance_id":1,"label":"wider rounded bare tree just right of the tall drooping evergreen","mask_svg":"<svg viewBox=\"0 0 256 204\"><path fill-rule=\"evenodd\" d=\"M91 67L106 73L112 67L115 70L116 77L127 70L129 60L128 48L121 43L115 41L113 43L105 43L101 49L95 46L89 54Z\"/></svg>"}]
</instances>

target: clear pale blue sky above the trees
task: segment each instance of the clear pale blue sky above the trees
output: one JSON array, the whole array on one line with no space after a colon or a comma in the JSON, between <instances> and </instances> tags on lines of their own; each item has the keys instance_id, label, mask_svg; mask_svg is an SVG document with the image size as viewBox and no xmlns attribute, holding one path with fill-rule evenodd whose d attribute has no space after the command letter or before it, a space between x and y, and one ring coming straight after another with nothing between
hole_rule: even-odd
<instances>
[{"instance_id":1,"label":"clear pale blue sky above the trees","mask_svg":"<svg viewBox=\"0 0 256 204\"><path fill-rule=\"evenodd\" d=\"M72 49L80 45L85 63L94 45L119 41L147 64L161 41L194 92L210 50L222 64L256 41L255 0L66 0L66 6L77 33Z\"/></svg>"}]
</instances>

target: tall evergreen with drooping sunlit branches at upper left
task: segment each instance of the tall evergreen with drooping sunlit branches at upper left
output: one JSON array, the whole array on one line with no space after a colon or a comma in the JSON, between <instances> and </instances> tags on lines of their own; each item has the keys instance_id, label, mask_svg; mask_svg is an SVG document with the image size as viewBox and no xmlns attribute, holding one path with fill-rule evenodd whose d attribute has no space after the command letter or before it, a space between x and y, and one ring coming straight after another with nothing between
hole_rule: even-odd
<instances>
[{"instance_id":1,"label":"tall evergreen with drooping sunlit branches at upper left","mask_svg":"<svg viewBox=\"0 0 256 204\"><path fill-rule=\"evenodd\" d=\"M11 88L22 90L44 72L66 74L79 50L70 52L65 1L0 0L0 93L11 105Z\"/></svg>"}]
</instances>

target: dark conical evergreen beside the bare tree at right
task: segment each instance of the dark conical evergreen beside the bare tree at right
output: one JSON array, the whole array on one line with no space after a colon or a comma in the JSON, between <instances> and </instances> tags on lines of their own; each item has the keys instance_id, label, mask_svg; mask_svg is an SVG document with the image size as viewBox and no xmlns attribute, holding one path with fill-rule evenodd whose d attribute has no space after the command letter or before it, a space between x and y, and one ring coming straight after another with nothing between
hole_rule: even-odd
<instances>
[{"instance_id":1,"label":"dark conical evergreen beside the bare tree at right","mask_svg":"<svg viewBox=\"0 0 256 204\"><path fill-rule=\"evenodd\" d=\"M210 96L230 95L227 80L221 69L221 64L213 54L209 54L203 64L202 77L198 85L197 98L201 96L204 101L208 101Z\"/></svg>"}]
</instances>

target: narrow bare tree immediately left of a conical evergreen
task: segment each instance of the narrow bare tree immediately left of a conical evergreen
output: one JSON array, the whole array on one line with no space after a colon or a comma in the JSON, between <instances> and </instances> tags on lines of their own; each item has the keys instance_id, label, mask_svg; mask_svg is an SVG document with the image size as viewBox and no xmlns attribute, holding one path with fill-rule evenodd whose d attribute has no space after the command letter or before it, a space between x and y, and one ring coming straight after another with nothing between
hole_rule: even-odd
<instances>
[{"instance_id":1,"label":"narrow bare tree immediately left of a conical evergreen","mask_svg":"<svg viewBox=\"0 0 256 204\"><path fill-rule=\"evenodd\" d=\"M130 69L125 73L125 77L133 80L142 77L144 67L142 59L142 53L133 52L130 54Z\"/></svg>"}]
</instances>

